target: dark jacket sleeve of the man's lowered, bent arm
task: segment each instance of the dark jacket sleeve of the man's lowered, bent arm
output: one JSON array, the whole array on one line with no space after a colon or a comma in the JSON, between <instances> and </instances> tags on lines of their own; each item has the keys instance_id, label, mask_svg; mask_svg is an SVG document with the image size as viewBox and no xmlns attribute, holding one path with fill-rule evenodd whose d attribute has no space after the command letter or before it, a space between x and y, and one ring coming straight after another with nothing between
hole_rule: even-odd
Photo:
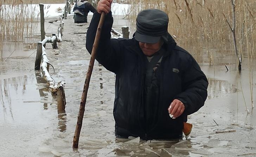
<instances>
[{"instance_id":1,"label":"dark jacket sleeve of the man's lowered, bent arm","mask_svg":"<svg viewBox=\"0 0 256 157\"><path fill-rule=\"evenodd\" d=\"M201 71L198 63L191 57L192 61L188 63L187 69L183 73L183 93L176 96L176 99L185 105L185 115L193 114L203 107L207 98L208 81Z\"/></svg>"}]
</instances>

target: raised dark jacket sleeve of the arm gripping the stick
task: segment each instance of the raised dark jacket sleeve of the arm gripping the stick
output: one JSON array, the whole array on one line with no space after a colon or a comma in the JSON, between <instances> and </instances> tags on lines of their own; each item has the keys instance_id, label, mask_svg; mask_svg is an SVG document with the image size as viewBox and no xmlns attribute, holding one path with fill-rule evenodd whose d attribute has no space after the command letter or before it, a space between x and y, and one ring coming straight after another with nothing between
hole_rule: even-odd
<instances>
[{"instance_id":1,"label":"raised dark jacket sleeve of the arm gripping the stick","mask_svg":"<svg viewBox=\"0 0 256 157\"><path fill-rule=\"evenodd\" d=\"M95 12L87 30L86 48L90 54L92 52L100 17L101 14ZM113 73L117 73L120 61L120 45L117 39L110 39L112 25L113 17L112 13L109 12L105 15L105 20L103 22L101 37L96 52L96 60L101 63L107 70L112 71Z\"/></svg>"}]
</instances>

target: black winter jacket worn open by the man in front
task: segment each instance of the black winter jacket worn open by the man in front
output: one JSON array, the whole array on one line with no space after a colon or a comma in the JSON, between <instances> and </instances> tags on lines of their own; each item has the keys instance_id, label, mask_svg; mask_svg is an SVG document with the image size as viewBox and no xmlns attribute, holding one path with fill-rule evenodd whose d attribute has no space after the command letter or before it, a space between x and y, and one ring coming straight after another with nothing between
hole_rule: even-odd
<instances>
[{"instance_id":1,"label":"black winter jacket worn open by the man in front","mask_svg":"<svg viewBox=\"0 0 256 157\"><path fill-rule=\"evenodd\" d=\"M94 13L87 31L86 48L92 51L100 14ZM111 12L102 27L96 60L116 74L114 119L115 134L122 137L140 136L142 139L173 139L182 136L187 115L198 111L207 97L208 81L194 58L177 46L171 35L157 71L160 98L151 129L146 129L143 104L145 64L139 43L133 39L110 39L113 25ZM169 117L170 103L178 99L185 105L184 113L173 120Z\"/></svg>"}]
</instances>

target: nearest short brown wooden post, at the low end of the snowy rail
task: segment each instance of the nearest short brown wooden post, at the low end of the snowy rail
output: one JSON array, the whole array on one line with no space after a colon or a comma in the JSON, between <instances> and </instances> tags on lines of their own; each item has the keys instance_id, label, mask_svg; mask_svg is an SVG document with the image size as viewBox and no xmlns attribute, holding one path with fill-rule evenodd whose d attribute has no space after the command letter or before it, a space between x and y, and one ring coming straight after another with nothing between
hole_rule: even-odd
<instances>
[{"instance_id":1,"label":"nearest short brown wooden post, at the low end of the snowy rail","mask_svg":"<svg viewBox=\"0 0 256 157\"><path fill-rule=\"evenodd\" d=\"M65 91L64 91L64 84L58 83L58 91L57 91L57 96L58 96L58 105L57 109L58 111L63 111L65 110L66 107L66 97L65 97Z\"/></svg>"}]
</instances>

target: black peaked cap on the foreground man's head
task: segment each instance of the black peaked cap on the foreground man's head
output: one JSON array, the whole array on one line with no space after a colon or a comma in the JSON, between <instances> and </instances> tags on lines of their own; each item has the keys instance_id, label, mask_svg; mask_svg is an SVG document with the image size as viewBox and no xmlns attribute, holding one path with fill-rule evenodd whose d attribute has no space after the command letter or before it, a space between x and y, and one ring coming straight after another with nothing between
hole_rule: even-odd
<instances>
[{"instance_id":1,"label":"black peaked cap on the foreground man's head","mask_svg":"<svg viewBox=\"0 0 256 157\"><path fill-rule=\"evenodd\" d=\"M158 9L141 11L136 20L135 40L144 43L157 43L168 29L168 15ZM165 37L163 38L165 40Z\"/></svg>"}]
</instances>

